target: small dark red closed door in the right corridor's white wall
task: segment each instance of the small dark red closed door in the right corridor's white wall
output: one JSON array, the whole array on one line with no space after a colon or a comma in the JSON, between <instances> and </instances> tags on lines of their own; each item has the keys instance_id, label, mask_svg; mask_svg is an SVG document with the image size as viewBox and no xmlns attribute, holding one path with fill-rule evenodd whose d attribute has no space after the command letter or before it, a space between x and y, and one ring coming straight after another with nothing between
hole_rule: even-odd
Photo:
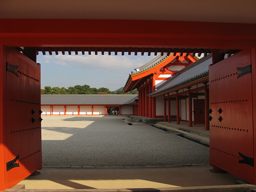
<instances>
[{"instance_id":1,"label":"small dark red closed door in the right corridor's white wall","mask_svg":"<svg viewBox=\"0 0 256 192\"><path fill-rule=\"evenodd\" d=\"M204 99L194 99L194 125L197 124L204 124L205 117L204 117Z\"/></svg>"}]
</instances>

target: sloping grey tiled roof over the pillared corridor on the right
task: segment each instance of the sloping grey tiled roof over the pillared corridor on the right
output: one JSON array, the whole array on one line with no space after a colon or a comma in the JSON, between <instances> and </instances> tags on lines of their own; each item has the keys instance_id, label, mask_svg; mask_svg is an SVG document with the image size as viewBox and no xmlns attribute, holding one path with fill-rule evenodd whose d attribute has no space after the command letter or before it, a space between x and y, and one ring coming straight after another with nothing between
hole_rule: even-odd
<instances>
[{"instance_id":1,"label":"sloping grey tiled roof over the pillared corridor on the right","mask_svg":"<svg viewBox=\"0 0 256 192\"><path fill-rule=\"evenodd\" d=\"M159 93L174 89L178 86L185 85L194 80L200 79L207 76L208 65L212 64L212 59L208 54L206 57L197 60L195 63L181 69L176 75L174 75L170 80L166 81L164 84L156 88L156 91L149 94L149 96L154 96Z\"/></svg>"}]
</instances>

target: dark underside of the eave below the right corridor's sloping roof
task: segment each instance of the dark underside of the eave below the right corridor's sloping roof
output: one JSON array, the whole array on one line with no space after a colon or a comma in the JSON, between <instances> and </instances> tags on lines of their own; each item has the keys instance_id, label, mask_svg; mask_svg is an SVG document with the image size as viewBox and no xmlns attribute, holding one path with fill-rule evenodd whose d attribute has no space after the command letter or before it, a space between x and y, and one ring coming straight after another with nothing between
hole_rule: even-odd
<instances>
[{"instance_id":1,"label":"dark underside of the eave below the right corridor's sloping roof","mask_svg":"<svg viewBox=\"0 0 256 192\"><path fill-rule=\"evenodd\" d=\"M170 90L166 90L166 91L160 92L160 93L158 93L158 94L151 95L151 97L156 97L156 96L162 96L162 95L165 95L165 94L169 94L169 93L171 93L171 92L179 91L179 90L181 90L181 89L190 87L190 86L192 86L192 85L197 85L197 84L199 84L199 83L207 82L208 80L209 80L209 75L204 76L204 77L202 77L202 78L200 78L200 79L197 79L197 80L193 80L193 81L188 82L188 83L186 83L186 84L183 84L183 85L174 87L174 88L172 88L172 89L170 89ZM154 93L154 92L153 92L153 93ZM150 96L150 95L148 95L148 96Z\"/></svg>"}]
</instances>

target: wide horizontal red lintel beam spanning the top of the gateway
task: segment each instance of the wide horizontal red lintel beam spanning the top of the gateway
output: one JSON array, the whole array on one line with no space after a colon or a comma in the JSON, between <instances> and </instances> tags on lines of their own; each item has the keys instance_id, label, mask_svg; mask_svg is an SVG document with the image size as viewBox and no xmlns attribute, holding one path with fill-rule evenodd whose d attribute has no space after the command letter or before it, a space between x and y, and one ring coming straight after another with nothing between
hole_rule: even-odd
<instances>
[{"instance_id":1,"label":"wide horizontal red lintel beam spanning the top of the gateway","mask_svg":"<svg viewBox=\"0 0 256 192\"><path fill-rule=\"evenodd\" d=\"M251 48L256 24L81 19L0 19L11 47ZM152 27L154 26L154 27Z\"/></svg>"}]
</instances>

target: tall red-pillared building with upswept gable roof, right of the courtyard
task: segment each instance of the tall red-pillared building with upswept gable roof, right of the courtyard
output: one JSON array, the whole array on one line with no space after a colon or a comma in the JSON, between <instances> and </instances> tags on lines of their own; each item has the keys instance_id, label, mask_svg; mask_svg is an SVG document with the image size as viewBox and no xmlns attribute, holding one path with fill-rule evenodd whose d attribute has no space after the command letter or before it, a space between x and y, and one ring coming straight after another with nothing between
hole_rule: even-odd
<instances>
[{"instance_id":1,"label":"tall red-pillared building with upswept gable roof, right of the courtyard","mask_svg":"<svg viewBox=\"0 0 256 192\"><path fill-rule=\"evenodd\" d=\"M204 56L165 54L135 69L124 87L125 92L139 91L135 118L145 123L187 121L190 127L205 124L208 130L208 65L212 60Z\"/></svg>"}]
</instances>

